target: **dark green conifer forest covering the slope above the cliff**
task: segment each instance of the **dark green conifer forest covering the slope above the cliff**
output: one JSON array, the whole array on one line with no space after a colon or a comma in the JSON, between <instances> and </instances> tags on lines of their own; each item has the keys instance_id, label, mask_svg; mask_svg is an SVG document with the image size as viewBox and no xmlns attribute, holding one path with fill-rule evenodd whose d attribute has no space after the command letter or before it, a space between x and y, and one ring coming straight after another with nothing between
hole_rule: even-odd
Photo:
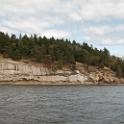
<instances>
[{"instance_id":1,"label":"dark green conifer forest covering the slope above the cliff","mask_svg":"<svg viewBox=\"0 0 124 124\"><path fill-rule=\"evenodd\" d=\"M0 53L14 60L30 59L48 66L56 64L58 68L66 64L75 69L76 62L100 68L106 66L115 71L117 76L124 77L124 61L121 58L111 56L106 48L98 50L87 43L79 44L67 39L26 34L16 37L0 32Z\"/></svg>"}]
</instances>

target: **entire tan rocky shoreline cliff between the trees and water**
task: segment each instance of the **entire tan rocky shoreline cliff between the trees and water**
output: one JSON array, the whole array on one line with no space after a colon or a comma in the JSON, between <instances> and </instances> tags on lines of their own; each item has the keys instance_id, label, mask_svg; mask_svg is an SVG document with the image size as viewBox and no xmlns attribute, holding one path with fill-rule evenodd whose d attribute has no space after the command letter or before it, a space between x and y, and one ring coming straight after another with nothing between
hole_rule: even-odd
<instances>
[{"instance_id":1,"label":"entire tan rocky shoreline cliff between the trees and water","mask_svg":"<svg viewBox=\"0 0 124 124\"><path fill-rule=\"evenodd\" d=\"M117 78L108 68L97 69L81 63L76 70L53 71L42 64L25 63L10 59L0 59L0 84L40 84L40 85L99 85L123 84L124 79Z\"/></svg>"}]
</instances>

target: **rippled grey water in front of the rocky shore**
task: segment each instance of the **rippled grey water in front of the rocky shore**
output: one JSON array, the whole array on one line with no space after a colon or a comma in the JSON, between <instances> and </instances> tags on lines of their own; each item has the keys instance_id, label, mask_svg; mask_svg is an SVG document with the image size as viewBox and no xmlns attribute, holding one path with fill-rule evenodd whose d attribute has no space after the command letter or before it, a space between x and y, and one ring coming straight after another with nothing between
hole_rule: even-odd
<instances>
[{"instance_id":1,"label":"rippled grey water in front of the rocky shore","mask_svg":"<svg viewBox=\"0 0 124 124\"><path fill-rule=\"evenodd\" d=\"M124 86L0 86L0 124L124 124Z\"/></svg>"}]
</instances>

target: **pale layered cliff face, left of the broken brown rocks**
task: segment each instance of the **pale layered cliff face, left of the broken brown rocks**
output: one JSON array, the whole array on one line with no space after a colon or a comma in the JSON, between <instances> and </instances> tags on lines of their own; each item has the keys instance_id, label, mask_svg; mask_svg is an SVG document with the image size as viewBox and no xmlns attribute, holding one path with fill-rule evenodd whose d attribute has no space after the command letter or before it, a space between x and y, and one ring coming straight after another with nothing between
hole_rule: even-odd
<instances>
[{"instance_id":1,"label":"pale layered cliff face, left of the broken brown rocks","mask_svg":"<svg viewBox=\"0 0 124 124\"><path fill-rule=\"evenodd\" d=\"M89 84L84 74L70 70L52 71L43 65L17 62L13 60L0 61L0 82L7 84Z\"/></svg>"}]
</instances>

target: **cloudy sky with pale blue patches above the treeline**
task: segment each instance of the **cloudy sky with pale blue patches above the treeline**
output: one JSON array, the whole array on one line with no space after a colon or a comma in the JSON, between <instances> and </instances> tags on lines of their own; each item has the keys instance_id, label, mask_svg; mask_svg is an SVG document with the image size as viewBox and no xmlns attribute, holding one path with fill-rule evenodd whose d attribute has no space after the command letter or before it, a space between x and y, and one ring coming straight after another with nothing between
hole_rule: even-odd
<instances>
[{"instance_id":1,"label":"cloudy sky with pale blue patches above the treeline","mask_svg":"<svg viewBox=\"0 0 124 124\"><path fill-rule=\"evenodd\" d=\"M124 56L124 0L0 0L0 30L85 41Z\"/></svg>"}]
</instances>

